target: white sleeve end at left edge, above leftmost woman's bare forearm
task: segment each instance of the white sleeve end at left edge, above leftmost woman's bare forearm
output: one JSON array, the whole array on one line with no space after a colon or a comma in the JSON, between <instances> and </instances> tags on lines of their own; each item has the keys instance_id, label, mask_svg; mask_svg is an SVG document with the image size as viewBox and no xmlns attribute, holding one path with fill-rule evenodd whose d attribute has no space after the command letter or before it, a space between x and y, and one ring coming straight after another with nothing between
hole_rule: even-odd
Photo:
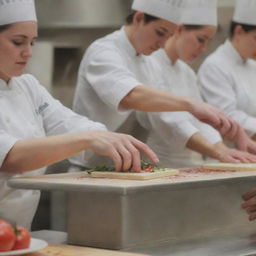
<instances>
[{"instance_id":1,"label":"white sleeve end at left edge, above leftmost woman's bare forearm","mask_svg":"<svg viewBox=\"0 0 256 256\"><path fill-rule=\"evenodd\" d=\"M0 130L0 166L2 166L8 152L14 146L14 144L19 140L3 130Z\"/></svg>"}]
</instances>

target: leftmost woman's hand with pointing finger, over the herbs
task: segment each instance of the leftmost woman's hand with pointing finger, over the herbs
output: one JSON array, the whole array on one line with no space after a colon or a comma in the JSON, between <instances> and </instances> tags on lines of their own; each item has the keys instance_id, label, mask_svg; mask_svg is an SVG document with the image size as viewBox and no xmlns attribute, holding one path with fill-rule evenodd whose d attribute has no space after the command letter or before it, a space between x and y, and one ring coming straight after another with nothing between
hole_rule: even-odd
<instances>
[{"instance_id":1,"label":"leftmost woman's hand with pointing finger, over the herbs","mask_svg":"<svg viewBox=\"0 0 256 256\"><path fill-rule=\"evenodd\" d=\"M110 157L117 171L141 171L140 152L145 153L153 162L159 161L146 144L130 135L91 131L89 137L89 148L99 155Z\"/></svg>"}]
</instances>

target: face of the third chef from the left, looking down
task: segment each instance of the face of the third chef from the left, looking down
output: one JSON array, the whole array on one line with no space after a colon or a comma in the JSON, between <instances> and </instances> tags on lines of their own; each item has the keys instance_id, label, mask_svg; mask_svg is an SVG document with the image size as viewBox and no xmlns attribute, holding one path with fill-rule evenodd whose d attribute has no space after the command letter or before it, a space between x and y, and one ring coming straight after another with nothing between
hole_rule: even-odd
<instances>
[{"instance_id":1,"label":"face of the third chef from the left, looking down","mask_svg":"<svg viewBox=\"0 0 256 256\"><path fill-rule=\"evenodd\" d=\"M179 59L190 63L207 50L208 42L216 34L216 27L204 26L187 30L179 26L176 31L176 54Z\"/></svg>"}]
</instances>

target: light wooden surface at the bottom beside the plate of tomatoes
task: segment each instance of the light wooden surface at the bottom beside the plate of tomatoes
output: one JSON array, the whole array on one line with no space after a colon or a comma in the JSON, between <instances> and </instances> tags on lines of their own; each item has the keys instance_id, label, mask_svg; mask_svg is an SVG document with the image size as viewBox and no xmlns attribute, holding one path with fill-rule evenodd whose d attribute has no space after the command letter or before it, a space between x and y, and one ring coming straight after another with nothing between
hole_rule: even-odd
<instances>
[{"instance_id":1,"label":"light wooden surface at the bottom beside the plate of tomatoes","mask_svg":"<svg viewBox=\"0 0 256 256\"><path fill-rule=\"evenodd\" d=\"M146 256L129 252L103 250L89 247L50 244L38 252L25 254L24 256Z\"/></svg>"}]
</instances>

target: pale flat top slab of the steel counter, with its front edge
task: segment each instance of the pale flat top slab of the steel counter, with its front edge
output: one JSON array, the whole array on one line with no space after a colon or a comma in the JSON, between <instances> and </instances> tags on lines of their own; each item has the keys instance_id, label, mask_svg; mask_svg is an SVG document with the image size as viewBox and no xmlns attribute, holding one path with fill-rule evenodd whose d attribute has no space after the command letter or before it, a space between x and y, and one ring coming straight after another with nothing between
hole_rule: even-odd
<instances>
[{"instance_id":1,"label":"pale flat top slab of the steel counter, with its front edge","mask_svg":"<svg viewBox=\"0 0 256 256\"><path fill-rule=\"evenodd\" d=\"M9 180L9 185L15 188L54 190L66 192L115 193L119 195L137 194L149 191L170 189L212 187L224 184L242 184L255 182L256 171L183 173L153 180L121 180L91 178L87 172L72 172L49 174L42 176L27 176Z\"/></svg>"}]
</instances>

